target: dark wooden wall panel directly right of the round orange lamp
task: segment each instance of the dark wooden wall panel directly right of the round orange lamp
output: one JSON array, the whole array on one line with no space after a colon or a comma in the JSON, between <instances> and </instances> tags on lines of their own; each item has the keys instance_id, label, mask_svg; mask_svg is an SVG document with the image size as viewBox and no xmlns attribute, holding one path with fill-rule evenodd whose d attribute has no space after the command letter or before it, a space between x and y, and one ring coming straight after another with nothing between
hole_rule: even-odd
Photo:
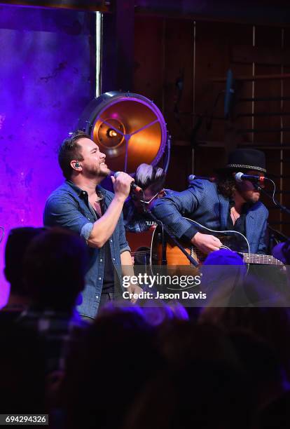
<instances>
[{"instance_id":1,"label":"dark wooden wall panel directly right of the round orange lamp","mask_svg":"<svg viewBox=\"0 0 290 429\"><path fill-rule=\"evenodd\" d=\"M164 115L172 136L169 186L181 191L191 174L193 129L193 21L167 19L164 41Z\"/></svg>"}]
</instances>

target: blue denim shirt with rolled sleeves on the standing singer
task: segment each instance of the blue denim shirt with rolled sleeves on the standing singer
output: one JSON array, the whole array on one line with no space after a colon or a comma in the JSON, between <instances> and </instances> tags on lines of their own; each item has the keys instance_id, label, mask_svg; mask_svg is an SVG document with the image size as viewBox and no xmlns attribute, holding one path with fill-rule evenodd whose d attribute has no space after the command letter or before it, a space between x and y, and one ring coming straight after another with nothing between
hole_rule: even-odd
<instances>
[{"instance_id":1,"label":"blue denim shirt with rolled sleeves on the standing singer","mask_svg":"<svg viewBox=\"0 0 290 429\"><path fill-rule=\"evenodd\" d=\"M97 191L104 195L104 211L106 211L114 195L101 186L97 186ZM55 189L46 201L43 214L43 224L45 226L61 226L62 228L71 229L71 231L75 231L83 237L84 240L88 240L96 220L95 211L90 208L88 202L88 193L68 180ZM120 277L120 254L126 250L130 252L130 247L125 237L122 214L115 231L109 238L109 245L113 266ZM81 315L95 318L104 278L104 247L100 249L89 247L89 258L89 268L85 275L83 302L78 306L78 311Z\"/></svg>"}]
</instances>

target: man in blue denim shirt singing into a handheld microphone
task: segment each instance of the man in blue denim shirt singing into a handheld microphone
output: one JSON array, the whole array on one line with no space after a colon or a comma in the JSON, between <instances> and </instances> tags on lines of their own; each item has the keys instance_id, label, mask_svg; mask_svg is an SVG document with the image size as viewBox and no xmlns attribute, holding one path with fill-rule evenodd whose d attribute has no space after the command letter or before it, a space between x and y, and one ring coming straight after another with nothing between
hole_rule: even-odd
<instances>
[{"instance_id":1,"label":"man in blue denim shirt singing into a handheld microphone","mask_svg":"<svg viewBox=\"0 0 290 429\"><path fill-rule=\"evenodd\" d=\"M90 247L83 302L78 307L87 318L95 318L99 305L113 298L114 273L120 277L122 266L128 270L132 265L122 209L133 179L120 172L112 177L115 194L103 189L99 183L110 173L105 158L83 131L64 139L58 161L66 181L48 197L43 214L46 226L71 229ZM137 285L129 289L141 292Z\"/></svg>"}]
</instances>

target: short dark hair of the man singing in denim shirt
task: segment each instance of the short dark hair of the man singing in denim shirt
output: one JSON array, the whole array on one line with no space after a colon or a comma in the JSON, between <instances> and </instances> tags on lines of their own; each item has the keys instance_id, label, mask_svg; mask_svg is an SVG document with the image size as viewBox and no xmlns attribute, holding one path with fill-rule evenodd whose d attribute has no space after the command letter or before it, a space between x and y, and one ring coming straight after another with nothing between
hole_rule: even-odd
<instances>
[{"instance_id":1,"label":"short dark hair of the man singing in denim shirt","mask_svg":"<svg viewBox=\"0 0 290 429\"><path fill-rule=\"evenodd\" d=\"M78 161L83 161L83 156L81 155L81 148L78 144L79 139L90 139L90 135L86 132L78 130L73 132L70 137L64 139L62 144L58 149L58 163L62 169L62 173L66 179L71 178L71 161L77 159Z\"/></svg>"}]
</instances>

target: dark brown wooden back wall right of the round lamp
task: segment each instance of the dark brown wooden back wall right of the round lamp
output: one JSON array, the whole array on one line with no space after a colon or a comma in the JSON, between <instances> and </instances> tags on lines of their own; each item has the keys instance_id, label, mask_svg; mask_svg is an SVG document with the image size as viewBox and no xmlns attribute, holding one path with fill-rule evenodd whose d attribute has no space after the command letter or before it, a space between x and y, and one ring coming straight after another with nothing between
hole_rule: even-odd
<instances>
[{"instance_id":1,"label":"dark brown wooden back wall right of the round lamp","mask_svg":"<svg viewBox=\"0 0 290 429\"><path fill-rule=\"evenodd\" d=\"M283 60L285 52L290 50L290 29L284 30L284 48L282 34L279 27L256 27L255 48L251 25L205 21L194 25L193 20L182 18L136 17L134 92L156 102L172 135L167 186L180 191L186 188L186 177L191 172L212 175L216 165L226 161L228 150L261 145L268 171L275 175L278 191L283 191L282 203L290 206L290 132L277 130L280 125L290 128L290 115L261 115L277 113L281 108L290 113L290 79L283 84L280 80L255 81L254 86L252 81L239 81L232 120L223 118L223 91L228 69L232 69L234 78L251 77L255 60L255 75L283 71L290 74L289 65L279 64L279 58ZM218 83L215 78L224 80ZM255 97L279 97L283 93L289 100L282 104L280 101L254 102L254 113L260 115L251 116L252 102L240 99L252 97L253 90ZM213 111L218 95L219 101ZM202 125L193 141L193 128L199 118L202 118ZM251 128L276 130L245 131ZM281 172L286 177L280 179ZM289 216L282 216L267 198L263 200L270 208L272 225L280 229L279 222L283 221L282 232L290 235Z\"/></svg>"}]
</instances>

